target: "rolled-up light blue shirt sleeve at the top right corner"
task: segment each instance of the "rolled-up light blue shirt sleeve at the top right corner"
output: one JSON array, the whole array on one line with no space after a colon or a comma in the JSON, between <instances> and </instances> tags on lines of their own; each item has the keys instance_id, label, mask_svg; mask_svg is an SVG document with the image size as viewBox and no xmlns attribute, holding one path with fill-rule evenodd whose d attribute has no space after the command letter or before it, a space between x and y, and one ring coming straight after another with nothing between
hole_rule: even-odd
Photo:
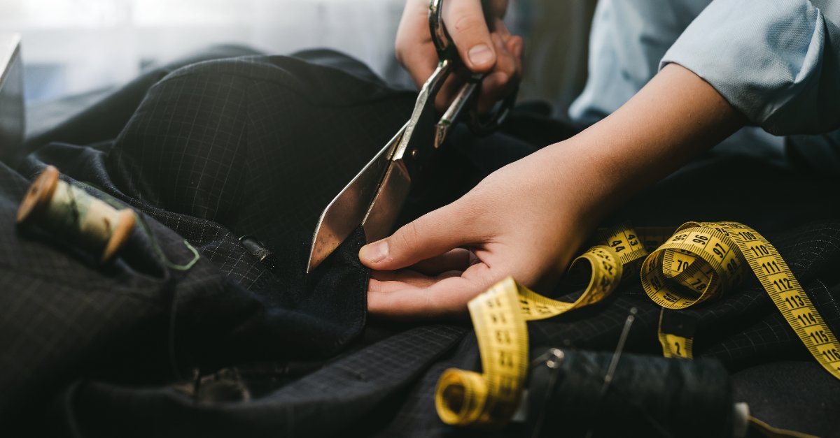
<instances>
[{"instance_id":1,"label":"rolled-up light blue shirt sleeve at the top right corner","mask_svg":"<svg viewBox=\"0 0 840 438\"><path fill-rule=\"evenodd\" d=\"M826 133L840 128L840 28L829 18L809 0L714 0L659 68L683 65L769 133Z\"/></svg>"}]
</instances>

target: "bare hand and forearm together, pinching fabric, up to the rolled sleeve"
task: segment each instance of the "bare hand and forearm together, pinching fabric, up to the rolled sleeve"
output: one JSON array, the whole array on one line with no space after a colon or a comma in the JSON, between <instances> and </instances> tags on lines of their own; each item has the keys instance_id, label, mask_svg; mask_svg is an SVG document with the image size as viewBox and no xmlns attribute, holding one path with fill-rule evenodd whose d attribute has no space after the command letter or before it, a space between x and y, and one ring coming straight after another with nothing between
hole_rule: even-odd
<instances>
[{"instance_id":1,"label":"bare hand and forearm together, pinching fabric, up to the rolled sleeve","mask_svg":"<svg viewBox=\"0 0 840 438\"><path fill-rule=\"evenodd\" d=\"M508 164L458 201L361 248L362 263L374 269L368 310L461 315L507 275L538 289L553 284L606 214L744 122L706 81L667 65L583 133Z\"/></svg>"}]
</instances>

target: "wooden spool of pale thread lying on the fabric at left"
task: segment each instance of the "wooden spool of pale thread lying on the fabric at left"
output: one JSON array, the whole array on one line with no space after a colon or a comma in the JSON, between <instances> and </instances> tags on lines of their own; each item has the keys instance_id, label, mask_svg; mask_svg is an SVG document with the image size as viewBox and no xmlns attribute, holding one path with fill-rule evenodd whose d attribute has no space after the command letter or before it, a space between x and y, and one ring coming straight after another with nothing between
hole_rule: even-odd
<instances>
[{"instance_id":1,"label":"wooden spool of pale thread lying on the fabric at left","mask_svg":"<svg viewBox=\"0 0 840 438\"><path fill-rule=\"evenodd\" d=\"M37 225L94 254L101 263L108 262L129 239L134 212L117 210L60 180L59 175L58 169L47 166L29 185L18 207L18 224Z\"/></svg>"}]
</instances>

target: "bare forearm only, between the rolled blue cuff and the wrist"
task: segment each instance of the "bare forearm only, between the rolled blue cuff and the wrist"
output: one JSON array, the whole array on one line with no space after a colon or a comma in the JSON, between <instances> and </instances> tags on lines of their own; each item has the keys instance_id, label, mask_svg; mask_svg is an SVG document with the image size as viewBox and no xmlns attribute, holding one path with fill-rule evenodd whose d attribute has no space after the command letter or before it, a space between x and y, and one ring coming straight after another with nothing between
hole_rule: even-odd
<instances>
[{"instance_id":1,"label":"bare forearm only, between the rolled blue cuff and the wrist","mask_svg":"<svg viewBox=\"0 0 840 438\"><path fill-rule=\"evenodd\" d=\"M591 219L654 184L741 128L745 117L706 81L667 65L636 96L601 122L544 152L581 187L577 201ZM561 182L562 181L562 182Z\"/></svg>"}]
</instances>

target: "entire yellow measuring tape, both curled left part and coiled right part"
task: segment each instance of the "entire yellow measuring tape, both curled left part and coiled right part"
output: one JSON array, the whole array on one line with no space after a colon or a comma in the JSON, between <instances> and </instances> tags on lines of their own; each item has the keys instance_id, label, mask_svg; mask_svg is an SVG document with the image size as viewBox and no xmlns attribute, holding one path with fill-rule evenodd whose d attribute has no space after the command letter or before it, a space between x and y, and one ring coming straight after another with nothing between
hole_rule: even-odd
<instances>
[{"instance_id":1,"label":"entire yellow measuring tape, both curled left part and coiled right part","mask_svg":"<svg viewBox=\"0 0 840 438\"><path fill-rule=\"evenodd\" d=\"M811 355L840 379L837 337L785 260L759 232L738 222L687 222L673 235L664 228L638 231L641 233L616 227L601 232L599 240L606 244L575 258L570 269L579 263L591 265L589 285L575 302L551 300L510 277L471 300L470 317L483 373L457 368L444 371L435 393L440 419L449 425L507 424L522 397L528 373L527 321L597 303L637 267L648 297L663 308L659 342L665 357L691 357L690 333L671 332L663 324L669 312L732 289L743 279L748 265ZM769 426L765 430L780 432Z\"/></svg>"}]
</instances>

